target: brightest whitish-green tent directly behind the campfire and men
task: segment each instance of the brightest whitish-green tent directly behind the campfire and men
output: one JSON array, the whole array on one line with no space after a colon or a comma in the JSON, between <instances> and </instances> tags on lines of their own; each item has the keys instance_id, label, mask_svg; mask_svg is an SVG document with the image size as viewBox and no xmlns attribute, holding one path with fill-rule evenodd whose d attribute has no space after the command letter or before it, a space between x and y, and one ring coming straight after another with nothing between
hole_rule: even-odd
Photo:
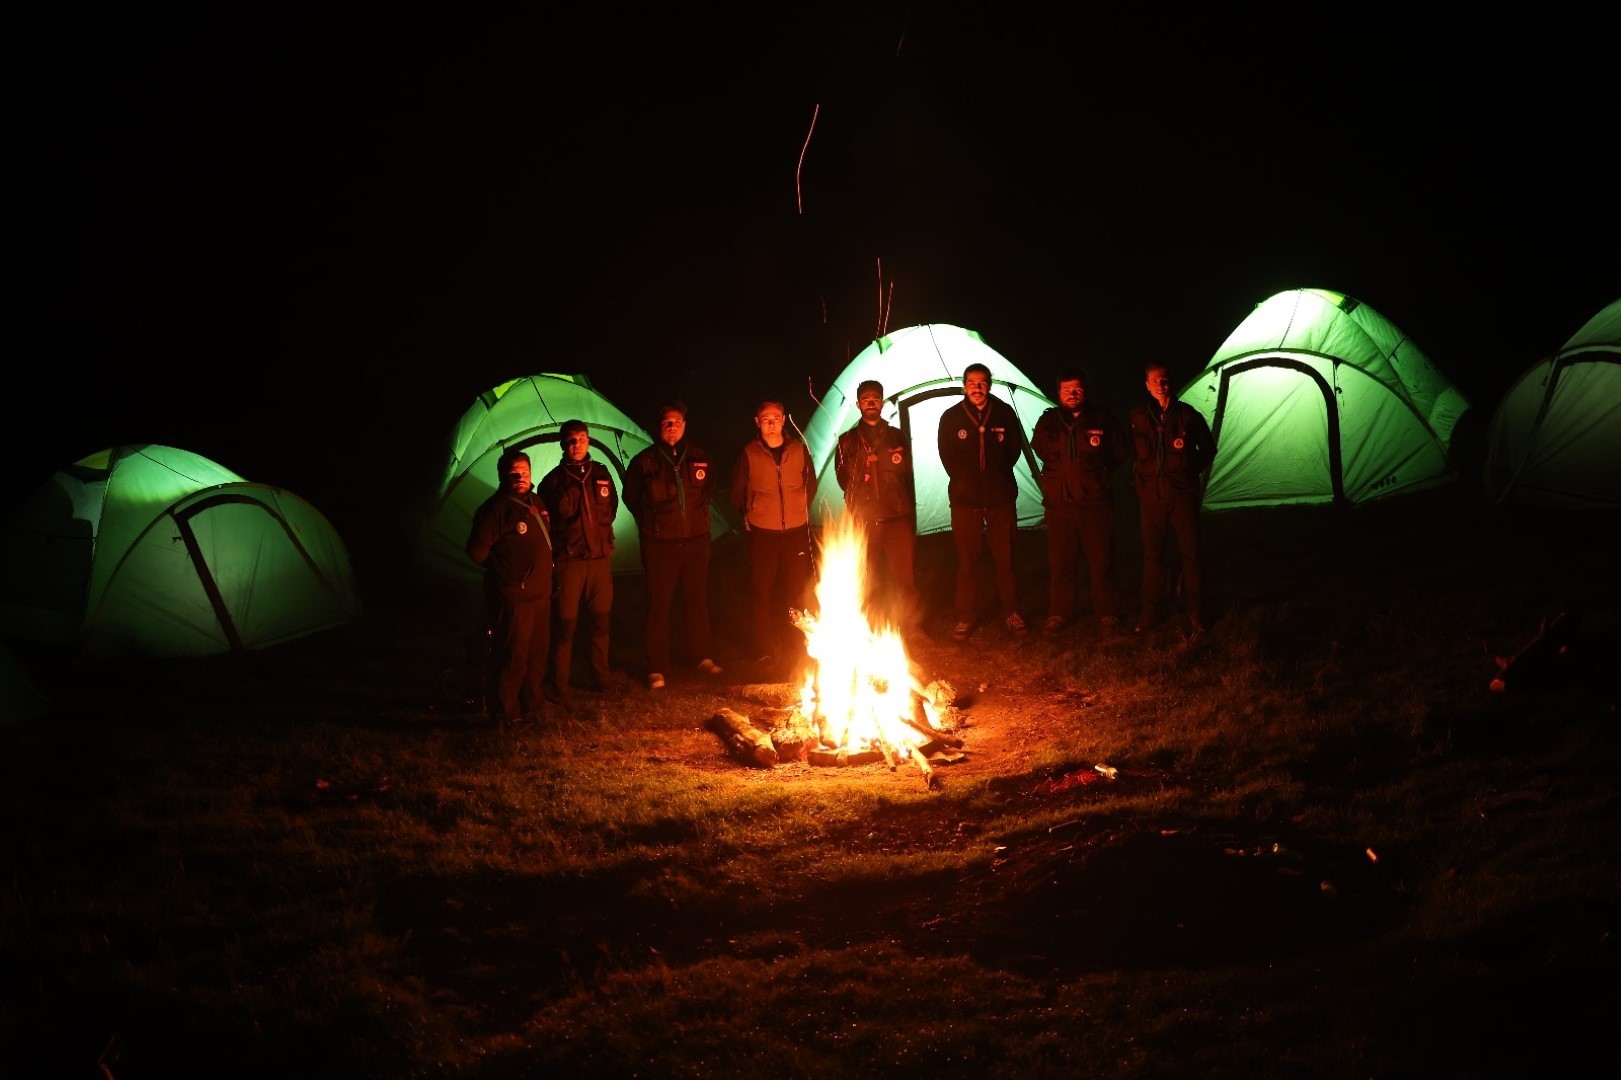
<instances>
[{"instance_id":1,"label":"brightest whitish-green tent directly behind the campfire and men","mask_svg":"<svg viewBox=\"0 0 1621 1080\"><path fill-rule=\"evenodd\" d=\"M833 475L838 436L861 420L856 388L866 379L877 379L883 384L885 420L898 426L913 448L917 535L950 532L952 508L945 495L947 475L940 465L937 439L940 415L963 399L963 370L971 363L990 368L990 392L1013 405L1028 439L1036 420L1054 402L977 332L948 323L895 331L856 354L806 425L806 443L817 472L812 521L828 521L843 509L843 491ZM1037 472L1034 454L1026 451L1023 464L1013 470L1021 529L1042 521Z\"/></svg>"}]
</instances>

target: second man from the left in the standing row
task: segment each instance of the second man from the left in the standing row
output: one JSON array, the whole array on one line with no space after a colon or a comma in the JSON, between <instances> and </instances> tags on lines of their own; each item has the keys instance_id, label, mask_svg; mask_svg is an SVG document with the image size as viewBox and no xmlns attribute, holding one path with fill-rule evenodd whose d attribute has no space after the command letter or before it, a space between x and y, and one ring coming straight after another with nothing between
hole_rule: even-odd
<instances>
[{"instance_id":1,"label":"second man from the left in the standing row","mask_svg":"<svg viewBox=\"0 0 1621 1080\"><path fill-rule=\"evenodd\" d=\"M608 465L592 459L592 436L584 420L558 428L562 461L540 480L540 499L551 516L556 598L551 636L551 689L569 696L574 668L574 631L580 606L590 613L592 689L608 689L608 619L613 613L613 519L619 512Z\"/></svg>"}]
</instances>

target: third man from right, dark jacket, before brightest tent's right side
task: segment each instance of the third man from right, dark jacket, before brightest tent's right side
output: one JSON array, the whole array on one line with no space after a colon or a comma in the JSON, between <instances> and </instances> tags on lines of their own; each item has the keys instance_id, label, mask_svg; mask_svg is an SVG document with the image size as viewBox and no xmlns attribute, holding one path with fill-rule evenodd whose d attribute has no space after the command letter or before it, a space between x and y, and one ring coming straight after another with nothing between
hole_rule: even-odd
<instances>
[{"instance_id":1,"label":"third man from right, dark jacket, before brightest tent's right side","mask_svg":"<svg viewBox=\"0 0 1621 1080\"><path fill-rule=\"evenodd\" d=\"M1024 428L1013 405L990 392L990 368L971 363L963 371L963 401L940 414L940 464L952 504L956 546L956 629L968 641L979 618L979 555L987 542L995 563L997 597L1008 631L1028 629L1018 611L1013 576L1013 535L1018 532L1018 483L1013 465L1024 452Z\"/></svg>"}]
</instances>

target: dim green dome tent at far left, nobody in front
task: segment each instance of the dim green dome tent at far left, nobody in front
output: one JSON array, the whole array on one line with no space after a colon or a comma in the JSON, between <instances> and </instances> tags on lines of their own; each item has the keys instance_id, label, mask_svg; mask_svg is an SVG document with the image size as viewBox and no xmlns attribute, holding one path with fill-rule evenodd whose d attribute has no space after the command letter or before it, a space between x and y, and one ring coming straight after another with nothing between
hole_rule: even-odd
<instances>
[{"instance_id":1,"label":"dim green dome tent at far left, nobody in front","mask_svg":"<svg viewBox=\"0 0 1621 1080\"><path fill-rule=\"evenodd\" d=\"M91 454L0 530L0 632L88 657L243 652L358 616L319 511L172 446Z\"/></svg>"}]
</instances>

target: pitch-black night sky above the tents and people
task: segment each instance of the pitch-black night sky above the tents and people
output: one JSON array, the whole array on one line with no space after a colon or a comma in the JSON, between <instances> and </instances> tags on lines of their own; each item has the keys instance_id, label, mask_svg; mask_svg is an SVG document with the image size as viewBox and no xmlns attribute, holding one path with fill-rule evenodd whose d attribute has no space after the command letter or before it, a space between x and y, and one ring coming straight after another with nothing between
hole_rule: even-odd
<instances>
[{"instance_id":1,"label":"pitch-black night sky above the tents and people","mask_svg":"<svg viewBox=\"0 0 1621 1080\"><path fill-rule=\"evenodd\" d=\"M169 443L376 525L543 370L644 425L681 392L729 452L762 394L809 422L877 259L892 329L1080 362L1122 410L1144 358L1191 375L1321 285L1490 412L1621 295L1613 39L1576 8L550 6L18 28L11 475Z\"/></svg>"}]
</instances>

